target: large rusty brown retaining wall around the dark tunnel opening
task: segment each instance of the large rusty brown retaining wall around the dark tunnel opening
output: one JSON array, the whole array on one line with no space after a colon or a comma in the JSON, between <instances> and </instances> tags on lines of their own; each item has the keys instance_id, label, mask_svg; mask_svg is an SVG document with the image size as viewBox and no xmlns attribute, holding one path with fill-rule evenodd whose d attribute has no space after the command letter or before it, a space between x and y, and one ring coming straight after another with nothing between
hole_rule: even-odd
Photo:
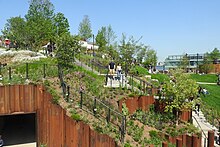
<instances>
[{"instance_id":1,"label":"large rusty brown retaining wall around the dark tunnel opening","mask_svg":"<svg viewBox=\"0 0 220 147\"><path fill-rule=\"evenodd\" d=\"M0 86L0 115L37 114L37 144L48 147L115 147L107 135L93 131L82 121L66 115L52 103L52 96L42 85Z\"/></svg>"}]
</instances>

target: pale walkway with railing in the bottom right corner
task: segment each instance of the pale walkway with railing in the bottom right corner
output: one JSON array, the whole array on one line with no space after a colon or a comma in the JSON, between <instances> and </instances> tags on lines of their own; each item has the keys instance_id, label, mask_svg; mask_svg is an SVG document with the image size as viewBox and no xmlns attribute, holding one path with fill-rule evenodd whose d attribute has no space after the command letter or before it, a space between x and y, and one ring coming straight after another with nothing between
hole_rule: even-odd
<instances>
[{"instance_id":1,"label":"pale walkway with railing in the bottom right corner","mask_svg":"<svg viewBox=\"0 0 220 147\"><path fill-rule=\"evenodd\" d=\"M208 131L213 130L215 132L215 138L218 138L218 129L215 126L212 126L207 120L205 119L203 113L200 111L192 112L192 118L193 118L193 125L199 128L199 130L202 131L202 146L206 147L208 144ZM220 145L216 144L217 140L215 140L215 146L218 147Z\"/></svg>"}]
</instances>

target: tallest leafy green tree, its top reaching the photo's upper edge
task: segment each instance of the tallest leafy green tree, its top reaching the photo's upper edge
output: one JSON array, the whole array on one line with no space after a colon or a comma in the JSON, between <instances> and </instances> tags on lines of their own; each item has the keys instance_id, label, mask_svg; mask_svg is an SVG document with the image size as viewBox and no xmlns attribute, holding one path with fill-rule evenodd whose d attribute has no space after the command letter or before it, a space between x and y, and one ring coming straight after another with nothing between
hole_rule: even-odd
<instances>
[{"instance_id":1,"label":"tallest leafy green tree, its top reaching the photo's upper edge","mask_svg":"<svg viewBox=\"0 0 220 147\"><path fill-rule=\"evenodd\" d=\"M31 48L36 49L53 39L54 29L52 20L54 6L49 0L30 0L27 20L27 41Z\"/></svg>"}]
</instances>

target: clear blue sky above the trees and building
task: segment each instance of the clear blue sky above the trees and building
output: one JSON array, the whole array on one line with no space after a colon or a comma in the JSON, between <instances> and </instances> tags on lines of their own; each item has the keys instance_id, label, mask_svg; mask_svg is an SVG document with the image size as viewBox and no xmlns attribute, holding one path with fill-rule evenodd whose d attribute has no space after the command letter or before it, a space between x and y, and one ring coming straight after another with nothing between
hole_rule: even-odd
<instances>
[{"instance_id":1,"label":"clear blue sky above the trees and building","mask_svg":"<svg viewBox=\"0 0 220 147\"><path fill-rule=\"evenodd\" d=\"M0 0L0 29L10 17L27 13L29 0ZM64 13L72 34L78 33L84 15L93 33L112 26L157 51L159 61L168 55L211 52L220 48L219 0L51 0L55 12Z\"/></svg>"}]
</instances>

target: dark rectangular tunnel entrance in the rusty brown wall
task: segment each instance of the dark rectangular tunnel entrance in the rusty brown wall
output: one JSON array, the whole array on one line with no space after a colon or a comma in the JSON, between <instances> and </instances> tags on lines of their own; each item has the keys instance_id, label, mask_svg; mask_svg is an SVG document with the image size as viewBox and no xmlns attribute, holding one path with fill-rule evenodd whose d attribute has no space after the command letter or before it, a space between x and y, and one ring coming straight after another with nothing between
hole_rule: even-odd
<instances>
[{"instance_id":1,"label":"dark rectangular tunnel entrance in the rusty brown wall","mask_svg":"<svg viewBox=\"0 0 220 147\"><path fill-rule=\"evenodd\" d=\"M0 135L5 146L36 142L36 113L0 116Z\"/></svg>"}]
</instances>

